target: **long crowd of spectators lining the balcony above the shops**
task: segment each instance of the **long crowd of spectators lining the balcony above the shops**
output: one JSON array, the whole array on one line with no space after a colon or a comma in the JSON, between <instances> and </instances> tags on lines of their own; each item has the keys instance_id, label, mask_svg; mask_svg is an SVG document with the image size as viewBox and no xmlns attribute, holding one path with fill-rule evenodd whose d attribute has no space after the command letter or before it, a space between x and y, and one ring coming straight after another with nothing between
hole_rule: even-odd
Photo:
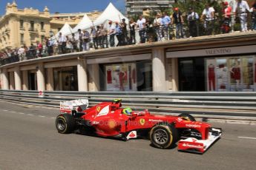
<instances>
[{"instance_id":1,"label":"long crowd of spectators lining the balcony above the shops","mask_svg":"<svg viewBox=\"0 0 256 170\"><path fill-rule=\"evenodd\" d=\"M252 5L252 9L249 9L246 1L238 0L233 9L228 2L223 3L222 21L219 25L221 33L232 32L235 19L240 23L240 31L256 30L256 1ZM249 28L248 13L251 17L251 27ZM49 38L45 37L44 41L37 41L30 47L24 45L13 50L2 51L0 52L1 64L68 52L212 35L216 18L214 7L209 4L206 4L202 13L196 13L193 8L189 8L188 13L183 13L178 7L175 7L171 16L165 12L157 13L154 20L140 16L137 21L130 18L126 22L125 18L122 18L122 21L119 22L108 21L108 27L102 24L93 26L90 30L79 29L78 33L69 36L64 36L62 33L59 33L57 37L50 35Z\"/></svg>"}]
</instances>

